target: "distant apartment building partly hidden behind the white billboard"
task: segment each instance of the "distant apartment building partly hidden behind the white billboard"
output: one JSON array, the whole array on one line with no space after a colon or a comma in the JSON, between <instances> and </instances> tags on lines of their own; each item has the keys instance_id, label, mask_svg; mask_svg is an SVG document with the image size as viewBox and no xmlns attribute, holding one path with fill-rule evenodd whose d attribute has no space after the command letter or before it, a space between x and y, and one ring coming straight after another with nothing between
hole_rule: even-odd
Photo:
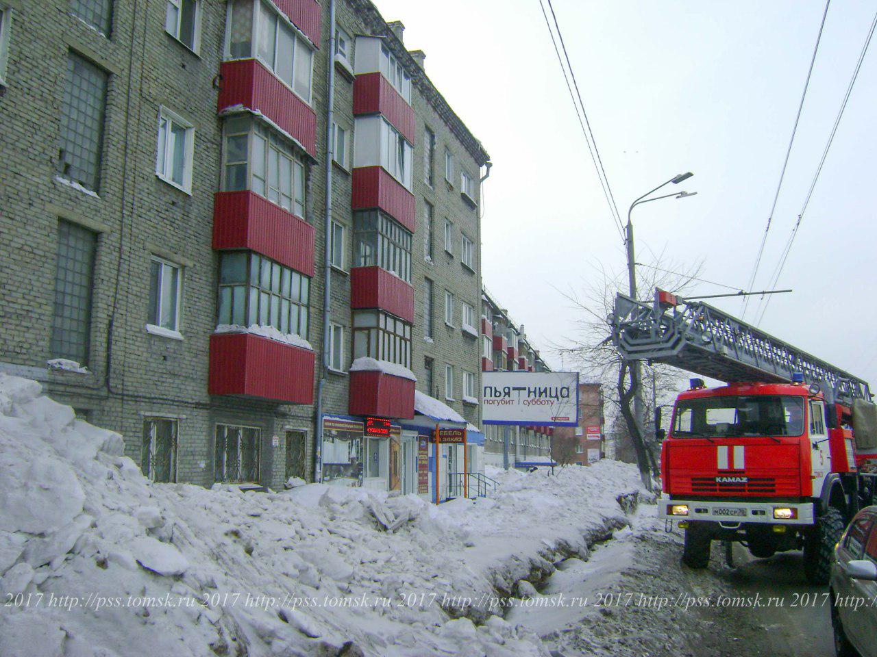
<instances>
[{"instance_id":1,"label":"distant apartment building partly hidden behind the white billboard","mask_svg":"<svg viewBox=\"0 0 877 657\"><path fill-rule=\"evenodd\" d=\"M481 371L551 371L487 288L481 289ZM553 427L484 425L484 463L531 468L553 463Z\"/></svg>"}]
</instances>

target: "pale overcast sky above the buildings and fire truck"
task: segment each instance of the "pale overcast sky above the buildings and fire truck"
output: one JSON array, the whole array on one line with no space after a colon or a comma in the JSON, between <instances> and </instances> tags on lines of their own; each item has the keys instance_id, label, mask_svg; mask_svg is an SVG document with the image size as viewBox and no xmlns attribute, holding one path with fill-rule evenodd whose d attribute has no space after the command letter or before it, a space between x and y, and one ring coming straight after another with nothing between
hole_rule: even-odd
<instances>
[{"instance_id":1,"label":"pale overcast sky above the buildings and fire truck","mask_svg":"<svg viewBox=\"0 0 877 657\"><path fill-rule=\"evenodd\" d=\"M822 0L553 0L618 209L676 173L694 198L634 210L638 260L745 287L824 11ZM485 284L545 346L578 315L593 263L624 267L538 0L376 0L485 145ZM877 4L831 4L757 289L800 213ZM873 45L761 328L877 385ZM671 186L672 187L672 186ZM679 190L678 188L676 188ZM673 190L671 190L673 191ZM641 254L641 255L640 255ZM653 260L652 260L653 261ZM722 293L702 285L697 293ZM714 302L734 314L740 300ZM757 303L747 320L754 321Z\"/></svg>"}]
</instances>

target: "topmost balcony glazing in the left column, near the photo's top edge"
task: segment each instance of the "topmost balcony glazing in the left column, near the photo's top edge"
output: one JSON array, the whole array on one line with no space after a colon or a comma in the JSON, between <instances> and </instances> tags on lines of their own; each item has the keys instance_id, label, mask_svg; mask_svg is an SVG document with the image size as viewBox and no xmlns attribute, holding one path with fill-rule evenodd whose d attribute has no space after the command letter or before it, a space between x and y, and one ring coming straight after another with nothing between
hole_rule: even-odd
<instances>
[{"instance_id":1,"label":"topmost balcony glazing in the left column, near the photo's top edge","mask_svg":"<svg viewBox=\"0 0 877 657\"><path fill-rule=\"evenodd\" d=\"M296 29L260 0L232 0L228 27L231 59L258 57L289 88L310 104L313 52Z\"/></svg>"}]
</instances>

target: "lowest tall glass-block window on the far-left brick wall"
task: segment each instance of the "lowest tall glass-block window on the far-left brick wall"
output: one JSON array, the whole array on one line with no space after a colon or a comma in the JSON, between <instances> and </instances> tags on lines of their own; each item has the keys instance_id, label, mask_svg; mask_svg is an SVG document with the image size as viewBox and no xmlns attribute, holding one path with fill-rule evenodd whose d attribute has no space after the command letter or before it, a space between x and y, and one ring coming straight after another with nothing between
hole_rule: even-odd
<instances>
[{"instance_id":1,"label":"lowest tall glass-block window on the far-left brick wall","mask_svg":"<svg viewBox=\"0 0 877 657\"><path fill-rule=\"evenodd\" d=\"M91 294L97 236L75 223L58 223L52 357L89 362Z\"/></svg>"}]
</instances>

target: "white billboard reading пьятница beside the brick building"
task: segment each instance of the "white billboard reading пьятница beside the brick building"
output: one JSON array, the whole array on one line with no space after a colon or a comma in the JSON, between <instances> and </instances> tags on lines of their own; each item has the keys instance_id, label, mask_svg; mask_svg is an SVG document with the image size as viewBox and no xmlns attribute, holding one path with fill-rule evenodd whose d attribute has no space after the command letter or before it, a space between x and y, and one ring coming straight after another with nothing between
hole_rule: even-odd
<instances>
[{"instance_id":1,"label":"white billboard reading \u043f\u044c\u044f\u0442\u043d\u0438\u0446\u0430 beside the brick building","mask_svg":"<svg viewBox=\"0 0 877 657\"><path fill-rule=\"evenodd\" d=\"M481 421L575 427L579 423L579 373L481 372Z\"/></svg>"}]
</instances>

